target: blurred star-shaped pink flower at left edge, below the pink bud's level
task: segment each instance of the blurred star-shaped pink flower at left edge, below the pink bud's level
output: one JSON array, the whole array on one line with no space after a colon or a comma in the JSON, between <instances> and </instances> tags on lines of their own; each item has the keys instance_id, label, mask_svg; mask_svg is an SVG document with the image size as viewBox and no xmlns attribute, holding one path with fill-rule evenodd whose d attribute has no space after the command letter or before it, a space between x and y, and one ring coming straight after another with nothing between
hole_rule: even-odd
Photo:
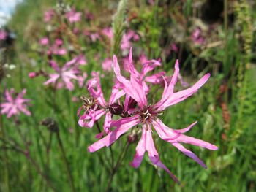
<instances>
[{"instance_id":1,"label":"blurred star-shaped pink flower at left edge, below the pink bud's level","mask_svg":"<svg viewBox=\"0 0 256 192\"><path fill-rule=\"evenodd\" d=\"M12 115L20 115L20 112L23 112L26 115L31 115L31 112L27 110L27 102L30 99L23 99L23 96L26 94L26 89L23 89L21 93L18 93L16 98L12 96L15 93L14 89L11 88L10 91L5 91L5 102L1 103L1 114L7 114L7 118L12 117Z\"/></svg>"}]
</instances>

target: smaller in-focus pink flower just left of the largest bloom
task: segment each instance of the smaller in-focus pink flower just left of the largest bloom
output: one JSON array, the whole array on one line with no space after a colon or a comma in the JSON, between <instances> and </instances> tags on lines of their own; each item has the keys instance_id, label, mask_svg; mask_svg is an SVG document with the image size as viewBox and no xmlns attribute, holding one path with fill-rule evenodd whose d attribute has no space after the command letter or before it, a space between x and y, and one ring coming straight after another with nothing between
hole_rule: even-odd
<instances>
[{"instance_id":1,"label":"smaller in-focus pink flower just left of the largest bloom","mask_svg":"<svg viewBox=\"0 0 256 192\"><path fill-rule=\"evenodd\" d=\"M113 104L116 100L118 100L121 96L124 96L124 91L119 91L119 83L116 82L112 88L110 99L108 102L106 102L99 82L99 75L96 74L95 77L89 80L87 83L88 91L94 99L95 104L89 110L85 109L85 112L83 113L83 115L80 116L78 123L82 127L92 128L94 126L94 122L99 120L99 118L101 118L103 115L105 115L105 122L103 128L105 133L109 134L110 123L112 120L111 107L113 107ZM86 104L88 102L89 101L86 101ZM78 113L80 113L80 110L78 111ZM104 133L102 132L97 137L101 137L103 134Z\"/></svg>"}]
</instances>

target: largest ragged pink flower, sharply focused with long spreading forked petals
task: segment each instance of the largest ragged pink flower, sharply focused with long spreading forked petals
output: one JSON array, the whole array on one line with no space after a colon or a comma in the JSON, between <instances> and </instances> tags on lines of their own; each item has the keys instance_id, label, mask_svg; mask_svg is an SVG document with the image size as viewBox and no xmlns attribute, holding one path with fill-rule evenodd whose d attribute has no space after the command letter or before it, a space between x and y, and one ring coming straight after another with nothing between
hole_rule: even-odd
<instances>
[{"instance_id":1,"label":"largest ragged pink flower, sharply focused with long spreading forked petals","mask_svg":"<svg viewBox=\"0 0 256 192\"><path fill-rule=\"evenodd\" d=\"M125 77L123 77L121 75L120 67L118 66L117 58L115 55L113 56L113 68L116 74L116 78L121 84L121 88L125 93L127 93L128 96L137 101L138 109L133 110L132 117L113 120L110 123L110 127L116 127L116 129L110 132L106 137L99 139L99 141L89 146L89 152L94 152L101 149L102 147L108 147L112 145L113 142L116 142L116 140L121 137L121 135L129 131L129 129L141 125L142 135L136 147L136 154L130 164L131 166L138 168L138 166L141 164L141 161L143 160L145 152L147 151L152 164L164 169L168 174L170 174L170 177L172 177L173 180L178 181L176 177L170 172L170 170L167 169L167 167L162 164L159 159L159 154L157 153L152 138L152 132L156 131L161 139L169 142L182 153L194 159L198 164L206 168L206 165L197 157L197 155L181 145L181 143L188 143L191 145L207 148L208 150L217 150L217 146L215 145L211 145L210 143L203 140L184 135L184 133L189 131L192 126L195 126L197 122L192 123L187 128L177 130L165 126L165 124L162 123L162 120L158 118L158 115L161 114L162 111L167 107L184 101L189 96L192 96L194 93L196 93L198 89L206 83L210 77L210 74L204 75L199 81L195 83L195 85L192 85L192 87L175 93L174 86L176 85L179 74L177 60L172 80L169 84L165 81L165 88L162 93L162 99L160 99L156 104L150 105L148 104L146 98L146 91L143 88L143 82L140 81L138 77L135 76L135 73L132 72L130 73L130 80L127 80Z\"/></svg>"}]
</instances>

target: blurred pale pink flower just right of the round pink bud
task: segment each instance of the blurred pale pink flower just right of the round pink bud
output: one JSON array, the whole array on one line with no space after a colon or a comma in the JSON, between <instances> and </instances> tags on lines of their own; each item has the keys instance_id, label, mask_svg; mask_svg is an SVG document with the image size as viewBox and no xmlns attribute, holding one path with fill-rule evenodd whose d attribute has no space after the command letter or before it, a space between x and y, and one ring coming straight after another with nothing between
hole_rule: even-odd
<instances>
[{"instance_id":1,"label":"blurred pale pink flower just right of the round pink bud","mask_svg":"<svg viewBox=\"0 0 256 192\"><path fill-rule=\"evenodd\" d=\"M78 80L78 77L76 75L78 74L78 70L76 70L74 67L69 69L70 66L72 66L72 64L70 64L70 61L67 62L62 68L60 68L55 61L50 61L50 66L54 69L56 73L49 74L50 79L44 82L44 85L48 85L50 83L52 83L53 85L57 85L57 81L61 80L61 82L64 83L68 90L73 90L74 84L71 80ZM57 88L61 87L57 86Z\"/></svg>"}]
</instances>

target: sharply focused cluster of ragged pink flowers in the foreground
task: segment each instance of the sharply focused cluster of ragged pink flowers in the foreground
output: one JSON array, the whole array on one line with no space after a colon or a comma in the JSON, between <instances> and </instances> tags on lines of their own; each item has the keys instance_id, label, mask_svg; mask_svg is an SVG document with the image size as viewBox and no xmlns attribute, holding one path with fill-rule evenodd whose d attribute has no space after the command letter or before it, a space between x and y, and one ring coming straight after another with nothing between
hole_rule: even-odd
<instances>
[{"instance_id":1,"label":"sharply focused cluster of ragged pink flowers in the foreground","mask_svg":"<svg viewBox=\"0 0 256 192\"><path fill-rule=\"evenodd\" d=\"M80 115L78 123L80 126L92 128L97 120L105 116L105 122L103 124L104 131L97 135L97 139L99 140L88 147L89 152L95 152L102 147L112 145L121 135L126 134L129 130L136 127L136 131L138 134L141 134L141 137L130 165L138 168L147 151L152 164L165 169L173 180L178 181L170 170L162 164L162 161L160 161L159 154L154 146L152 134L156 132L161 139L169 142L182 153L206 168L206 164L204 164L197 155L181 145L181 143L188 143L204 147L208 150L217 150L215 145L184 135L184 133L195 126L197 122L192 123L187 128L173 129L165 126L159 118L159 115L161 115L167 107L184 101L189 96L196 93L198 89L207 82L210 74L205 74L190 88L175 92L174 86L179 78L178 60L176 61L172 77L165 77L165 72L148 75L149 72L153 72L159 65L161 64L157 60L144 61L141 71L138 72L132 61L131 48L127 61L127 71L129 72L129 79L127 79L121 74L118 60L116 55L114 55L113 70L116 74L116 82L113 85L109 101L105 101L99 82L99 76L96 75L87 82L91 97L82 98L83 107L78 110L78 114L80 115L81 110L84 110L84 112L83 115ZM155 104L148 103L148 93L151 91L152 83L164 85L162 99ZM121 102L122 97L124 97L123 103ZM118 115L118 117L121 118L114 120L113 115Z\"/></svg>"}]
</instances>

